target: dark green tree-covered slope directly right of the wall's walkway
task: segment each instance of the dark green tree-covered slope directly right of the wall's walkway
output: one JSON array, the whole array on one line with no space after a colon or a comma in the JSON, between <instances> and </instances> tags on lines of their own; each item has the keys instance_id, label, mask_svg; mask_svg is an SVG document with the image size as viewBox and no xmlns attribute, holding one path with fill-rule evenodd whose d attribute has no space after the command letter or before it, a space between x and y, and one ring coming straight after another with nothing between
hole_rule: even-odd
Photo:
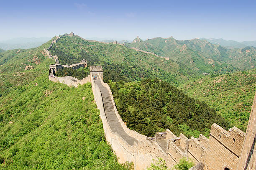
<instances>
[{"instance_id":1,"label":"dark green tree-covered slope directly right of the wall's walkway","mask_svg":"<svg viewBox=\"0 0 256 170\"><path fill-rule=\"evenodd\" d=\"M165 81L143 79L140 82L109 83L118 112L127 126L146 136L170 129L187 137L209 136L215 122L228 124L207 104L195 100Z\"/></svg>"}]
</instances>

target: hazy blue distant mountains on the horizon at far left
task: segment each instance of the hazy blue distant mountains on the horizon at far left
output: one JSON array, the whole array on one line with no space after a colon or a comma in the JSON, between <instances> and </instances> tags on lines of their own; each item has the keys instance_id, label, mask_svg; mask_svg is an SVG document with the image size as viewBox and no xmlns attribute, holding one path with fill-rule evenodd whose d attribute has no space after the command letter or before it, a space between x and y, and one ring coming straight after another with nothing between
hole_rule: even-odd
<instances>
[{"instance_id":1,"label":"hazy blue distant mountains on the horizon at far left","mask_svg":"<svg viewBox=\"0 0 256 170\"><path fill-rule=\"evenodd\" d=\"M41 38L13 38L6 41L0 41L0 48L3 50L13 50L13 49L28 49L41 46L46 43L51 38L41 37Z\"/></svg>"}]
</instances>

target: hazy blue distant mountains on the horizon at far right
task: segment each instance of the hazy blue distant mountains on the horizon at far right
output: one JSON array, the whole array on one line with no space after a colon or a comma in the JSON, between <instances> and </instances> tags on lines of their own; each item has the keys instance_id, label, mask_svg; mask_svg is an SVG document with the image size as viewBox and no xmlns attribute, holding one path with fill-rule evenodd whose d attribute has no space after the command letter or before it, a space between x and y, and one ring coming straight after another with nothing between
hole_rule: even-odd
<instances>
[{"instance_id":1,"label":"hazy blue distant mountains on the horizon at far right","mask_svg":"<svg viewBox=\"0 0 256 170\"><path fill-rule=\"evenodd\" d=\"M243 48L246 46L254 46L256 47L256 41L233 41L233 40L224 40L223 38L200 38L201 40L207 40L212 44L219 44L220 46L224 46L227 48Z\"/></svg>"}]
</instances>

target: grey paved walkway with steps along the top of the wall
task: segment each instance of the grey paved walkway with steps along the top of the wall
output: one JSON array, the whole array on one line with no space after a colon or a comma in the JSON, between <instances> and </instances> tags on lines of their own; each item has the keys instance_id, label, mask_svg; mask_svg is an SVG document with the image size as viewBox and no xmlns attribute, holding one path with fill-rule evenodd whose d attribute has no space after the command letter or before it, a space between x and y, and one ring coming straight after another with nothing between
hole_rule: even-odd
<instances>
[{"instance_id":1,"label":"grey paved walkway with steps along the top of the wall","mask_svg":"<svg viewBox=\"0 0 256 170\"><path fill-rule=\"evenodd\" d=\"M95 74L93 74L92 76L95 76ZM133 142L138 143L138 141L134 137L130 137L124 131L123 127L121 126L120 122L118 121L118 118L115 114L114 105L112 103L111 96L108 92L108 89L102 85L101 81L98 78L97 78L97 80L94 80L94 82L100 88L105 114L106 114L108 124L109 124L112 132L118 133L120 135L120 137L122 137L131 146L133 146Z\"/></svg>"}]
</instances>

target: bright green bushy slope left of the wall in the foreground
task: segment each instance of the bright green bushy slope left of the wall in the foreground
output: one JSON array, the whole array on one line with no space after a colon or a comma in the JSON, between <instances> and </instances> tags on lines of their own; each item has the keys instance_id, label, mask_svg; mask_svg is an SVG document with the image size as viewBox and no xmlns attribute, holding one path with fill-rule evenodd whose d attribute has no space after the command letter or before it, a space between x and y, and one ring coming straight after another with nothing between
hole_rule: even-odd
<instances>
[{"instance_id":1,"label":"bright green bushy slope left of the wall in the foreground","mask_svg":"<svg viewBox=\"0 0 256 170\"><path fill-rule=\"evenodd\" d=\"M105 141L90 83L47 74L0 98L0 169L130 169Z\"/></svg>"}]
</instances>

